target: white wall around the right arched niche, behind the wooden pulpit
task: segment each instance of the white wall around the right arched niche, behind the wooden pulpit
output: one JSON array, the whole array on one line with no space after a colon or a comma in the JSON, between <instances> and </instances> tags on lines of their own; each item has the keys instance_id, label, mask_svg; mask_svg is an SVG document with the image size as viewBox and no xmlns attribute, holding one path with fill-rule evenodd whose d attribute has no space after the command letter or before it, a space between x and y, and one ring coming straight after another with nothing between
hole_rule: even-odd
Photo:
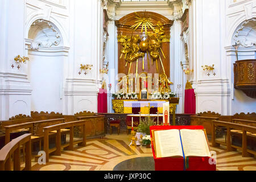
<instances>
[{"instance_id":1,"label":"white wall around the right arched niche, behind the wooden pulpit","mask_svg":"<svg viewBox=\"0 0 256 182\"><path fill-rule=\"evenodd\" d=\"M234 89L234 66L236 61L236 53L233 47L233 36L237 28L245 20L256 17L256 1L244 0L229 1L226 4L226 63L228 63L228 78L230 79L230 88L232 88L232 98L230 98L230 114L236 113L252 113L256 112L256 99L247 97L241 90ZM238 49L238 60L256 59L255 47Z\"/></svg>"}]
</instances>

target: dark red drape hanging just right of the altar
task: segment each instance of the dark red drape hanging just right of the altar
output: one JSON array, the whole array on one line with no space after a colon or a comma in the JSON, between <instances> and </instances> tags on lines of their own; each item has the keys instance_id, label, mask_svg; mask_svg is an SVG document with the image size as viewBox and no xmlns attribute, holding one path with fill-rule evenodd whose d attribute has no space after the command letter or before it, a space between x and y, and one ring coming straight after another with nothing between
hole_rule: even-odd
<instances>
[{"instance_id":1,"label":"dark red drape hanging just right of the altar","mask_svg":"<svg viewBox=\"0 0 256 182\"><path fill-rule=\"evenodd\" d=\"M185 90L184 114L196 114L196 96L194 89Z\"/></svg>"}]
</instances>

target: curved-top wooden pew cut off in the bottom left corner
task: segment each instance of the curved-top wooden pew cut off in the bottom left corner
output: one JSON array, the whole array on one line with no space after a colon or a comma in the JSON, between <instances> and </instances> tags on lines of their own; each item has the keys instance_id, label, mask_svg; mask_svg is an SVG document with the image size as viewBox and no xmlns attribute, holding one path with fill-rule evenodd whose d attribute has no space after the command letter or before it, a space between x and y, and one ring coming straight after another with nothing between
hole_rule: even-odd
<instances>
[{"instance_id":1,"label":"curved-top wooden pew cut off in the bottom left corner","mask_svg":"<svg viewBox=\"0 0 256 182\"><path fill-rule=\"evenodd\" d=\"M11 156L14 159L14 171L20 171L20 146L25 146L26 151L23 170L31 171L31 134L13 139L0 150L0 171L11 171Z\"/></svg>"}]
</instances>

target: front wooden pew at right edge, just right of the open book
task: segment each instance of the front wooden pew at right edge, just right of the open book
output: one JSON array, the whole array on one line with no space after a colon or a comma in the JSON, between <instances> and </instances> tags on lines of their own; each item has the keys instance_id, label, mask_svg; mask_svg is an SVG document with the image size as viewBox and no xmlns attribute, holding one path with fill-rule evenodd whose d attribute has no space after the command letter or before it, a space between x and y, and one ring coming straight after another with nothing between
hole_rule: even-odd
<instances>
[{"instance_id":1,"label":"front wooden pew at right edge, just right of the open book","mask_svg":"<svg viewBox=\"0 0 256 182\"><path fill-rule=\"evenodd\" d=\"M227 128L227 134L226 134L226 143L217 141L215 136L215 130L217 126L222 126ZM242 147L234 146L232 144L232 132L231 130L240 130L242 131ZM223 121L213 121L213 128L212 128L212 146L220 146L220 144L224 144L227 146L227 151L234 151L236 149L242 150L242 156L250 156L249 154L253 154L254 157L256 156L256 152L249 150L247 148L247 137L254 137L256 140L256 127L254 126L247 126L247 125L241 125L238 123L230 123L230 122L223 122Z\"/></svg>"}]
</instances>

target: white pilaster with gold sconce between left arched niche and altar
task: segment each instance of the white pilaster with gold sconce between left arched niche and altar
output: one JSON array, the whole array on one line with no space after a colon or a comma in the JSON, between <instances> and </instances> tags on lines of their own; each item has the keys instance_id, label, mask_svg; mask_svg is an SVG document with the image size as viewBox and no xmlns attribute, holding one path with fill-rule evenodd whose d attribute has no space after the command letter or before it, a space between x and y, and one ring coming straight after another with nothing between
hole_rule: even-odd
<instances>
[{"instance_id":1,"label":"white pilaster with gold sconce between left arched niche and altar","mask_svg":"<svg viewBox=\"0 0 256 182\"><path fill-rule=\"evenodd\" d=\"M65 97L68 114L97 112L100 63L102 61L102 20L99 0L71 1L71 59L73 75L67 79ZM79 75L80 65L93 65L87 75ZM71 108L69 108L71 107Z\"/></svg>"}]
</instances>

